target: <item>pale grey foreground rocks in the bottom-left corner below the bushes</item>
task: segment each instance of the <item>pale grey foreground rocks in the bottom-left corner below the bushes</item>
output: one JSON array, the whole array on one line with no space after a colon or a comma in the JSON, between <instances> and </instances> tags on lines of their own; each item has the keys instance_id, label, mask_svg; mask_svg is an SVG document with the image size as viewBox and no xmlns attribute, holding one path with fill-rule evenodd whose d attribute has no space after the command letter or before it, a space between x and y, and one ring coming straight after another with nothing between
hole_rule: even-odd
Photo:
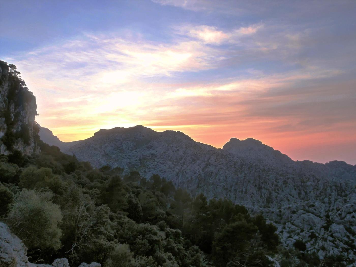
<instances>
[{"instance_id":1,"label":"pale grey foreground rocks in the bottom-left corner below the bushes","mask_svg":"<svg viewBox=\"0 0 356 267\"><path fill-rule=\"evenodd\" d=\"M69 267L66 258L53 261L52 265L35 264L28 261L27 247L21 239L12 234L9 226L0 223L0 266L1 267ZM101 267L100 263L80 264L81 267Z\"/></svg>"}]
</instances>

